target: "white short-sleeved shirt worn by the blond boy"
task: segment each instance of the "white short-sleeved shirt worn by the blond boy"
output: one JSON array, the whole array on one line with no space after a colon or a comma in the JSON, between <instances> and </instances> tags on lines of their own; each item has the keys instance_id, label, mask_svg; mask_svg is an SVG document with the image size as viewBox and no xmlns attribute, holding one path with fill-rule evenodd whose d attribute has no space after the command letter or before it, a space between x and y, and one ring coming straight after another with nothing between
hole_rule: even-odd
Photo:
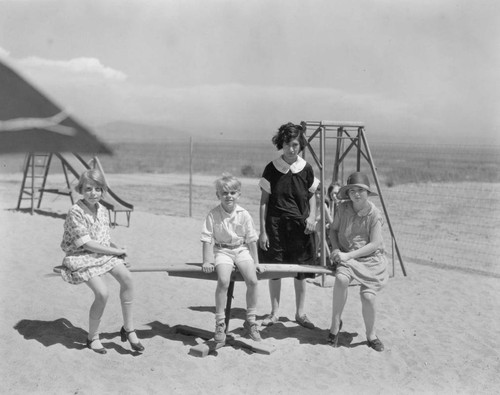
<instances>
[{"instance_id":1,"label":"white short-sleeved shirt worn by the blond boy","mask_svg":"<svg viewBox=\"0 0 500 395\"><path fill-rule=\"evenodd\" d=\"M203 223L202 242L238 245L257 240L258 235L252 216L238 204L232 213L228 213L219 204L210 210Z\"/></svg>"}]
</instances>

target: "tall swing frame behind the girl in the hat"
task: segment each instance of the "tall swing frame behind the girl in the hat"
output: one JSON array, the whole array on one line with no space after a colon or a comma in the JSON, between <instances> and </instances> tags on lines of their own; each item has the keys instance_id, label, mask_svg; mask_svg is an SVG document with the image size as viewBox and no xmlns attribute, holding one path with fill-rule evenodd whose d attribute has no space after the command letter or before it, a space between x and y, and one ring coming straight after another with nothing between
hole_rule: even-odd
<instances>
[{"instance_id":1,"label":"tall swing frame behind the girl in the hat","mask_svg":"<svg viewBox=\"0 0 500 395\"><path fill-rule=\"evenodd\" d=\"M380 189L380 182L377 175L377 168L375 166L375 162L373 161L373 157L370 152L370 148L368 146L368 141L365 136L365 127L362 122L338 122L338 121L302 121L301 125L306 130L306 137L308 141L308 149L313 157L316 165L319 168L319 176L321 182L321 202L320 204L320 215L321 215L321 230L320 230L320 262L323 267L326 267L327 263L327 242L326 242L326 224L325 224L325 176L326 176L326 140L327 139L335 139L336 140L336 149L335 149L335 157L333 163L333 174L332 181L340 182L342 184L342 180L340 177L340 168L343 161L346 159L347 155L354 149L356 154L356 171L361 171L361 159L365 159L366 163L370 167L371 174L375 181L375 185L377 187L377 192L380 198L380 203L382 205L382 210L385 215L385 219L387 221L387 225L389 227L389 231L391 234L392 246L396 251L396 255L399 259L399 263L401 266L401 270L403 275L406 276L406 269L403 263L403 259L401 258L401 254L399 252L399 247L396 241L396 236L394 234L392 224L389 218L389 213L387 212L387 208L385 206L384 198L382 195L382 191ZM312 146L312 141L314 139L319 139L319 152L317 153ZM349 145L345 147L344 142L347 142ZM304 152L305 154L305 152ZM394 254L392 259L392 268L394 273ZM324 276L323 276L324 280Z\"/></svg>"}]
</instances>

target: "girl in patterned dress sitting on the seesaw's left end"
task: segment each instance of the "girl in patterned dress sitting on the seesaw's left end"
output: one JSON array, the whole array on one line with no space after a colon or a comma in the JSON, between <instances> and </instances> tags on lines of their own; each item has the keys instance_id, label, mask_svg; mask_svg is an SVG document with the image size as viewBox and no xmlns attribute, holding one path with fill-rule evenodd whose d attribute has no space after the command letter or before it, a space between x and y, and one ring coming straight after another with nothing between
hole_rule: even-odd
<instances>
[{"instance_id":1,"label":"girl in patterned dress sitting on the seesaw's left end","mask_svg":"<svg viewBox=\"0 0 500 395\"><path fill-rule=\"evenodd\" d=\"M61 248L66 253L61 270L62 278L70 284L85 283L94 292L95 300L89 312L87 347L99 354L106 349L99 340L99 324L108 300L108 286L103 276L110 273L120 283L123 326L122 342L128 340L135 351L144 351L134 330L132 276L125 267L125 248L111 242L109 218L99 201L107 190L103 174L87 170L76 186L83 199L71 207L64 222Z\"/></svg>"}]
</instances>

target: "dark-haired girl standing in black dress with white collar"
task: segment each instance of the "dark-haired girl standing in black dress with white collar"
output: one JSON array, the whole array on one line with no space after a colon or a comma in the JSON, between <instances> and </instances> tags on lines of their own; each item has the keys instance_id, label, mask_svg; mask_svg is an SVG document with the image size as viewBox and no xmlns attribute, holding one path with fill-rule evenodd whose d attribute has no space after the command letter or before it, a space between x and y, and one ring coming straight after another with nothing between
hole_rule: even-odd
<instances>
[{"instance_id":1,"label":"dark-haired girl standing in black dress with white collar","mask_svg":"<svg viewBox=\"0 0 500 395\"><path fill-rule=\"evenodd\" d=\"M306 147L304 129L300 125L282 125L272 139L282 155L270 162L259 181L261 262L312 264L314 262L314 229L316 198L314 192L319 180L312 166L299 156ZM304 313L306 278L298 274L294 279L296 314L300 325L312 329L314 325ZM262 325L278 322L281 279L269 280L271 313Z\"/></svg>"}]
</instances>

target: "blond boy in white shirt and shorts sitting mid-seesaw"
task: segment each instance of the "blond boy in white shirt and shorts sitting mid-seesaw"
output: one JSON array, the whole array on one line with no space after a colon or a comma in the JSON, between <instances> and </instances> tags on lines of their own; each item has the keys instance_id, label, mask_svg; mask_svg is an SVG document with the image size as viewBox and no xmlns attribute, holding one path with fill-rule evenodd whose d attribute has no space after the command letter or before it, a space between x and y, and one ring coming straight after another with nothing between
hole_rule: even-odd
<instances>
[{"instance_id":1,"label":"blond boy in white shirt and shorts sitting mid-seesaw","mask_svg":"<svg viewBox=\"0 0 500 395\"><path fill-rule=\"evenodd\" d=\"M224 308L231 273L236 265L247 286L247 315L244 327L252 340L261 341L255 322L258 284L256 272L261 270L257 257L258 235L248 211L237 204L241 195L241 182L232 175L224 173L215 181L215 189L220 204L208 213L201 233L202 270L205 273L214 270L217 272L214 339L220 343L226 340ZM214 243L213 258L212 243Z\"/></svg>"}]
</instances>

